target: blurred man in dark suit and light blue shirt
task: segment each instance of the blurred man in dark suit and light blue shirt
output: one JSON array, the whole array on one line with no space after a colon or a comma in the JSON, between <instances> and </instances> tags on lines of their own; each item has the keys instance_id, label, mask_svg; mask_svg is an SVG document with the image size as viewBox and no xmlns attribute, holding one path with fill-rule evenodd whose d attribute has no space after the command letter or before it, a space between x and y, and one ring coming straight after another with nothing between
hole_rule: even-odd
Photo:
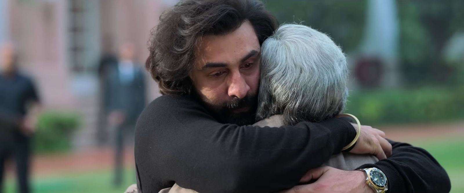
<instances>
[{"instance_id":1,"label":"blurred man in dark suit and light blue shirt","mask_svg":"<svg viewBox=\"0 0 464 193\"><path fill-rule=\"evenodd\" d=\"M124 143L133 143L135 122L145 107L145 83L141 64L134 61L134 44L126 42L119 48L117 65L107 69L105 93L109 95L108 125L115 135L116 186L122 183Z\"/></svg>"}]
</instances>

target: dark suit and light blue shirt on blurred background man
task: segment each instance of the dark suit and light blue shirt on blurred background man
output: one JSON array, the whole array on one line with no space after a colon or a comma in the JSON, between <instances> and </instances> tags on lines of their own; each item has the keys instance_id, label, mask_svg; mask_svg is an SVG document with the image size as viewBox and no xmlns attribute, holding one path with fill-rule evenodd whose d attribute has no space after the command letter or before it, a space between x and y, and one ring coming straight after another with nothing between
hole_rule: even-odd
<instances>
[{"instance_id":1,"label":"dark suit and light blue shirt on blurred background man","mask_svg":"<svg viewBox=\"0 0 464 193\"><path fill-rule=\"evenodd\" d=\"M125 121L113 128L115 135L115 184L122 183L122 155L124 143L128 138L133 142L135 122L145 107L145 80L140 65L133 64L133 68L123 73L122 64L109 68L106 77L105 93L108 97L108 112L120 111L125 116Z\"/></svg>"}]
</instances>

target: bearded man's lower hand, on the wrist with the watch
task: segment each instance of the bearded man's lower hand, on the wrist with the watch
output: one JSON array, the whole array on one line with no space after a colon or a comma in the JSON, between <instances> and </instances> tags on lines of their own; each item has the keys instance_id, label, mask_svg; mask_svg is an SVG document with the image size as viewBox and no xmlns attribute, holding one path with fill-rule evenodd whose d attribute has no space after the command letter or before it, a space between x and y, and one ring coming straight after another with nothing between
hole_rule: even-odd
<instances>
[{"instance_id":1,"label":"bearded man's lower hand, on the wrist with the watch","mask_svg":"<svg viewBox=\"0 0 464 193\"><path fill-rule=\"evenodd\" d=\"M363 171L344 171L329 166L311 169L300 182L316 180L280 193L374 193L367 184Z\"/></svg>"}]
</instances>

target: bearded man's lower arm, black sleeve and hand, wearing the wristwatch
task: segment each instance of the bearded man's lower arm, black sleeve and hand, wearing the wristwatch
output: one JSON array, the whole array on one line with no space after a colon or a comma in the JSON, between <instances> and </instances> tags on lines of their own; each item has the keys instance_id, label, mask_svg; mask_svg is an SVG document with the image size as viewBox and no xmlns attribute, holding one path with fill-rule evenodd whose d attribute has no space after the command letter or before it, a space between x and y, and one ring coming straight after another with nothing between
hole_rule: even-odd
<instances>
[{"instance_id":1,"label":"bearded man's lower arm, black sleeve and hand, wearing the wristwatch","mask_svg":"<svg viewBox=\"0 0 464 193\"><path fill-rule=\"evenodd\" d=\"M379 168L387 176L387 193L449 193L451 182L440 164L424 149L407 143L389 142L393 155L359 168ZM358 169L359 169L358 168ZM310 170L302 182L316 180L281 193L374 193L367 187L363 171L321 167Z\"/></svg>"}]
</instances>

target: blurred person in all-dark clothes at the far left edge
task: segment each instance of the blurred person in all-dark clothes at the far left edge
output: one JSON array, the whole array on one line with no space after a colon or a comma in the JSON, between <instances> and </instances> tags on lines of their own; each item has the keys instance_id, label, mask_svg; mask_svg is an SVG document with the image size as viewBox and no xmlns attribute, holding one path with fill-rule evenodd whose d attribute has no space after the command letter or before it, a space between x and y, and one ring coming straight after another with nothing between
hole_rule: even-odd
<instances>
[{"instance_id":1,"label":"blurred person in all-dark clothes at the far left edge","mask_svg":"<svg viewBox=\"0 0 464 193\"><path fill-rule=\"evenodd\" d=\"M0 45L0 192L5 161L16 160L18 192L28 193L31 137L39 113L39 96L31 78L19 72L12 43Z\"/></svg>"}]
</instances>

